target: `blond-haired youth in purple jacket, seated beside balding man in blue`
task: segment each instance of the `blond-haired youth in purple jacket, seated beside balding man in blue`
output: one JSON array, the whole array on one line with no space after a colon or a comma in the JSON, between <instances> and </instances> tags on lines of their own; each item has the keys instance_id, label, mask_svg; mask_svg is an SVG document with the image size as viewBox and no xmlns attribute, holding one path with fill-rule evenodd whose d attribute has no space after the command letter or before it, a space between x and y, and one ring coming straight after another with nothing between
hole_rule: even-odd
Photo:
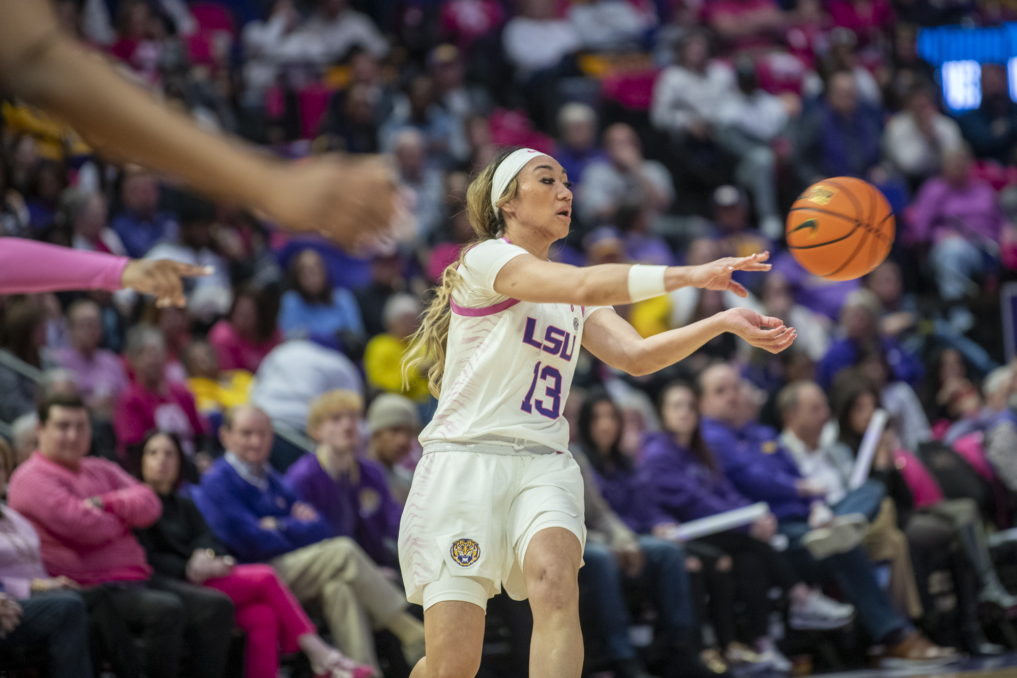
<instances>
[{"instance_id":1,"label":"blond-haired youth in purple jacket, seated beside balding man in blue","mask_svg":"<svg viewBox=\"0 0 1017 678\"><path fill-rule=\"evenodd\" d=\"M378 565L399 562L395 543L403 509L393 500L384 469L358 459L363 400L337 389L315 398L307 433L318 443L286 472L297 494L324 518L333 536L349 536Z\"/></svg>"}]
</instances>

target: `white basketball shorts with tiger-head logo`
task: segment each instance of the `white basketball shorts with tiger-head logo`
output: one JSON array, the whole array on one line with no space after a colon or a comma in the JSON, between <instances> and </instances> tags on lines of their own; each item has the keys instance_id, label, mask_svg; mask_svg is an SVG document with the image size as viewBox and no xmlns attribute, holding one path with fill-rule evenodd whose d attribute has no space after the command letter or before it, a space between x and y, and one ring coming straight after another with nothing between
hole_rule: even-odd
<instances>
[{"instance_id":1,"label":"white basketball shorts with tiger-head logo","mask_svg":"<svg viewBox=\"0 0 1017 678\"><path fill-rule=\"evenodd\" d=\"M547 527L586 544L583 476L571 454L425 452L399 527L407 599L425 610L440 601L486 610L503 585L526 600L526 549Z\"/></svg>"}]
</instances>

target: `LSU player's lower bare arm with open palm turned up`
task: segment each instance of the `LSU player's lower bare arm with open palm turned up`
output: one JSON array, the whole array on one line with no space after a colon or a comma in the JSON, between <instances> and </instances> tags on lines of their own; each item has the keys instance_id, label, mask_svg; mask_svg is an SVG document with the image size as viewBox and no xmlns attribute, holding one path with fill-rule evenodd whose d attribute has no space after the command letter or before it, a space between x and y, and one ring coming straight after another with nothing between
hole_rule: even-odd
<instances>
[{"instance_id":1,"label":"LSU player's lower bare arm with open palm turned up","mask_svg":"<svg viewBox=\"0 0 1017 678\"><path fill-rule=\"evenodd\" d=\"M794 328L785 327L778 318L739 307L644 339L613 310L598 308L583 326L583 346L612 368L640 376L689 357L724 332L771 353L784 350L797 336Z\"/></svg>"}]
</instances>

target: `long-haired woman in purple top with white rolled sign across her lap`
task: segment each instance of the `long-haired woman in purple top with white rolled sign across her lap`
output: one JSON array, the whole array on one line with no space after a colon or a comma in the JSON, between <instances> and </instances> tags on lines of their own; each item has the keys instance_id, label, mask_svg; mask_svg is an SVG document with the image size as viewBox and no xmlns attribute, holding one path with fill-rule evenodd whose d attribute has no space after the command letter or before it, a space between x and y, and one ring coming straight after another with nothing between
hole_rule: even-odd
<instances>
[{"instance_id":1,"label":"long-haired woman in purple top with white rolled sign across her lap","mask_svg":"<svg viewBox=\"0 0 1017 678\"><path fill-rule=\"evenodd\" d=\"M661 510L674 521L687 521L723 513L752 503L724 476L719 462L700 431L697 398L689 384L675 382L660 396L660 420L664 431L647 436L643 445L641 476ZM850 623L854 608L836 603L813 590L788 567L769 545L777 532L772 515L752 525L701 538L701 542L728 554L734 561L738 598L745 603L750 640L772 668L789 670L790 663L769 635L768 591L779 586L791 601L791 626L798 629L838 628ZM714 617L718 612L713 611ZM733 619L721 624L730 630L724 636L728 658L732 648Z\"/></svg>"}]
</instances>

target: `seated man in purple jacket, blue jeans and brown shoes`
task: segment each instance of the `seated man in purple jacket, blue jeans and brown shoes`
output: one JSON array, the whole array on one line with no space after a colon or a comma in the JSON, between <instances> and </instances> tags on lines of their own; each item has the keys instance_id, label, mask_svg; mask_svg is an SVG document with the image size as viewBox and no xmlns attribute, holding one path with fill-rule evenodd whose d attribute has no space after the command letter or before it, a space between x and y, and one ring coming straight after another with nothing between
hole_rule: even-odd
<instances>
[{"instance_id":1,"label":"seated man in purple jacket, blue jeans and brown shoes","mask_svg":"<svg viewBox=\"0 0 1017 678\"><path fill-rule=\"evenodd\" d=\"M864 551L857 546L860 530L853 530L859 534L855 546L848 549L852 532L834 529L840 523L831 521L832 512L820 499L825 488L801 477L790 454L778 446L777 432L734 419L741 409L734 369L726 363L711 365L703 371L699 382L703 440L717 454L720 467L738 492L752 501L770 503L779 519L780 532L790 541L787 558L799 575L820 581L836 578L857 609L861 624L877 643L885 646L884 658L904 662L952 658L951 651L933 644L897 614L876 580ZM845 502L838 508L844 508L845 515L854 512L845 507ZM813 525L824 524L833 526L824 527L825 532L812 529ZM850 527L849 522L844 524ZM822 539L806 549L803 542L809 542L804 538L811 530ZM825 557L819 559L813 553Z\"/></svg>"}]
</instances>

